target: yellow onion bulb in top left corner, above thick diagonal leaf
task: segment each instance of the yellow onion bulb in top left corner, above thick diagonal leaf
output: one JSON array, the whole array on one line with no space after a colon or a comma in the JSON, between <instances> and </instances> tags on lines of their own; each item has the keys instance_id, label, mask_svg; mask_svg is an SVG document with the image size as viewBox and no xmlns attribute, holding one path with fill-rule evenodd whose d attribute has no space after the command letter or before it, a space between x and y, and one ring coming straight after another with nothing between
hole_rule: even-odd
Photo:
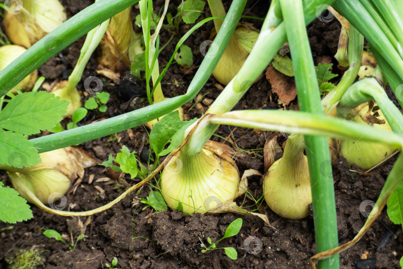
<instances>
[{"instance_id":1,"label":"yellow onion bulb in top left corner, above thick diagonal leaf","mask_svg":"<svg viewBox=\"0 0 403 269\"><path fill-rule=\"evenodd\" d=\"M59 0L19 0L21 12L5 12L4 30L13 44L29 48L67 16ZM16 9L16 8L14 8Z\"/></svg>"}]
</instances>

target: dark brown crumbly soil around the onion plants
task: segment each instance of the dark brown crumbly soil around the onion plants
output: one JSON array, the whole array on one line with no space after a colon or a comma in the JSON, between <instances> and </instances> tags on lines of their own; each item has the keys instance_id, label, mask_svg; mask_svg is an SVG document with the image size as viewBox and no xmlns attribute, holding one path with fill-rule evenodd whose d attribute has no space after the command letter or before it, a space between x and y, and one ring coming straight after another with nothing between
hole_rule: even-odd
<instances>
[{"instance_id":1,"label":"dark brown crumbly soil around the onion plants","mask_svg":"<svg viewBox=\"0 0 403 269\"><path fill-rule=\"evenodd\" d=\"M155 1L156 11L163 1ZM177 6L180 1L174 1ZM224 1L226 7L230 1ZM69 16L74 15L91 1L65 0L63 1ZM265 1L250 1L245 8L245 14L249 16L264 17L269 4ZM209 16L208 7L202 17ZM134 8L134 13L138 9ZM201 18L202 18L201 17ZM247 20L257 27L258 20ZM212 22L203 25L197 34L193 34L185 42L193 51L198 51L202 41L209 38ZM307 27L312 46L313 57L330 56L336 53L340 25L334 19L330 23L315 20ZM137 29L138 30L138 29ZM187 31L185 25L181 26L181 35ZM170 33L163 30L161 43L168 40ZM167 46L159 57L160 64L166 64L172 54L175 41ZM40 75L51 83L54 79L66 79L77 61L79 50L84 42L81 38L69 48L63 50L57 56L50 59L39 68ZM195 53L195 65L202 61L201 53ZM333 59L335 63L335 60ZM334 65L333 72L340 73ZM95 69L97 63L95 57L89 62L83 77L97 75ZM89 124L100 118L108 118L120 115L135 109L129 106L133 97L144 97L144 82L130 78L128 71L122 73L120 85L114 85L105 78L103 90L110 93L111 99L108 110L104 114L91 112L84 121ZM184 75L178 65L172 65L164 80L163 89L166 97L184 94L194 74ZM216 81L210 78L201 90L203 98L215 99L220 90L215 86ZM83 88L82 83L78 86ZM278 97L271 92L270 83L263 77L242 98L235 109L280 109ZM87 97L86 97L87 98ZM84 101L84 100L83 100ZM187 118L200 117L202 112L196 108L189 111L195 101L185 106ZM146 106L144 101L140 106ZM290 108L296 107L297 100L290 104ZM207 107L203 105L203 108ZM66 121L67 123L68 121ZM66 124L64 123L64 124ZM132 129L134 138L130 139L128 132L118 133L117 136L103 137L81 145L94 156L104 161L110 153L116 154L122 145L130 150L136 150L144 164L148 160L148 134L144 127ZM247 130L221 126L217 131L220 136L226 137L239 148L237 153L237 165L242 173L246 169L256 169L263 173L262 150L265 138L271 132ZM223 139L214 136L214 140ZM284 142L279 140L279 144ZM374 171L370 176L360 175L350 171L349 165L344 159L338 159L333 166L334 187L337 207L337 224L339 243L343 244L351 240L363 226L366 218L359 210L360 204L365 200L376 201L385 179L395 161L392 158L386 165ZM1 172L0 179L4 181L6 175ZM94 176L94 181L89 184L89 178ZM83 182L73 195L67 195L68 203L65 210L85 211L97 208L113 200L129 186L139 182L140 179L130 179L125 175L120 179L112 179L108 182L96 182L102 177L113 175L103 166L95 166L86 170ZM252 176L248 179L251 193L255 198L262 196L262 179ZM7 182L9 183L9 182ZM96 189L99 186L104 194ZM313 231L313 218L302 220L284 219L273 213L269 208L266 211L274 230L264 225L263 221L252 216L237 216L234 214L219 214L205 216L195 214L192 217L184 217L177 211L155 212L150 207L143 210L144 204L140 199L146 199L151 186L145 186L138 192L129 195L106 212L87 218L66 218L44 213L32 206L34 218L30 221L12 225L9 230L1 230L8 227L0 223L0 268L7 268L5 258L12 258L18 249L37 248L43 249L45 263L39 268L64 269L64 268L106 268L113 257L118 259L118 268L308 268L308 260L316 253ZM237 202L242 203L240 198ZM247 202L247 205L251 205ZM266 206L263 202L261 209ZM236 261L224 255L223 250L201 253L201 242L206 244L206 238L212 241L220 239L226 227L236 218L243 219L243 225L237 236L221 241L217 247L234 247L238 252ZM88 221L88 222L87 222ZM87 223L85 226L83 223ZM48 239L42 235L46 229L54 229L70 238L70 234L76 239L80 233L88 237L80 241L74 252L54 239ZM400 268L399 259L402 257L402 236L397 236L401 228L395 226L388 219L386 210L372 225L362 240L351 249L340 254L340 264L343 269L352 268ZM255 254L245 251L244 242L249 236L257 237L262 242L262 248L256 249ZM69 240L69 239L67 239Z\"/></svg>"}]
</instances>

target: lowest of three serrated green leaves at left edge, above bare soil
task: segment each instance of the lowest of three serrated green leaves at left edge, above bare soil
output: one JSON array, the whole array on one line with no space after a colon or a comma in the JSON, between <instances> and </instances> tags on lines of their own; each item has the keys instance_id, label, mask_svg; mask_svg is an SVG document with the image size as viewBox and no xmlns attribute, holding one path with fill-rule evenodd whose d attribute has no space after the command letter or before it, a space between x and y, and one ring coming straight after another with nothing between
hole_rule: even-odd
<instances>
[{"instance_id":1,"label":"lowest of three serrated green leaves at left edge, above bare soil","mask_svg":"<svg viewBox=\"0 0 403 269\"><path fill-rule=\"evenodd\" d=\"M4 187L0 181L0 221L16 223L33 218L26 200L10 187Z\"/></svg>"}]
</instances>

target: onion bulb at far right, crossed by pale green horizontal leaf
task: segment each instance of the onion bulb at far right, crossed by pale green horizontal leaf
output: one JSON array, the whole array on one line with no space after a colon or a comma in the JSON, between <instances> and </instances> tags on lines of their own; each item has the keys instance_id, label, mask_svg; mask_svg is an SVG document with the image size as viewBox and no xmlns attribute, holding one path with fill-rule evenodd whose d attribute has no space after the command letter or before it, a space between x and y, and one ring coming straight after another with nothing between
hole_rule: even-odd
<instances>
[{"instance_id":1,"label":"onion bulb at far right, crossed by pale green horizontal leaf","mask_svg":"<svg viewBox=\"0 0 403 269\"><path fill-rule=\"evenodd\" d=\"M370 107L368 103L352 109L347 118L375 129L391 131L391 127L379 107ZM362 169L374 167L395 151L396 149L385 144L363 140L341 140L339 145L340 156L344 156L348 163L355 164Z\"/></svg>"}]
</instances>

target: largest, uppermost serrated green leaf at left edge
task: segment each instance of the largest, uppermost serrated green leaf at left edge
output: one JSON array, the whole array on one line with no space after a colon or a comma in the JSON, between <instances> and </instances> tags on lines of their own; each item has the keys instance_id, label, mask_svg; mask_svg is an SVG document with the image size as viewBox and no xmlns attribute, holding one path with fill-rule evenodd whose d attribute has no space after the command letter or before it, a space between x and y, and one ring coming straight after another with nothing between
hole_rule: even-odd
<instances>
[{"instance_id":1,"label":"largest, uppermost serrated green leaf at left edge","mask_svg":"<svg viewBox=\"0 0 403 269\"><path fill-rule=\"evenodd\" d=\"M44 91L11 99L0 113L0 128L20 134L38 134L63 120L69 102Z\"/></svg>"}]
</instances>

